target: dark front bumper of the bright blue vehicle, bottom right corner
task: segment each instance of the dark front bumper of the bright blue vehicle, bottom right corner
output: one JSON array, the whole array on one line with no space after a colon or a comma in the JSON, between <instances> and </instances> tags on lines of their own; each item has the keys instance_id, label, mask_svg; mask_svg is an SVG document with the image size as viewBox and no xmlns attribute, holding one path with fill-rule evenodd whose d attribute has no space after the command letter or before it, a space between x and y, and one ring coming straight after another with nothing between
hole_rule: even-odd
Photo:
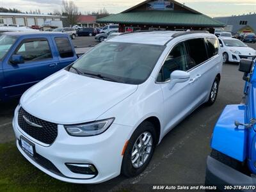
<instances>
[{"instance_id":1,"label":"dark front bumper of the bright blue vehicle, bottom right corner","mask_svg":"<svg viewBox=\"0 0 256 192\"><path fill-rule=\"evenodd\" d=\"M248 187L256 185L256 177L249 177L226 164L208 156L206 163L205 182L225 191L225 186L230 186L236 191L255 191ZM239 189L241 187L241 189ZM247 187L247 188L246 188ZM232 189L229 188L229 189Z\"/></svg>"}]
</instances>

